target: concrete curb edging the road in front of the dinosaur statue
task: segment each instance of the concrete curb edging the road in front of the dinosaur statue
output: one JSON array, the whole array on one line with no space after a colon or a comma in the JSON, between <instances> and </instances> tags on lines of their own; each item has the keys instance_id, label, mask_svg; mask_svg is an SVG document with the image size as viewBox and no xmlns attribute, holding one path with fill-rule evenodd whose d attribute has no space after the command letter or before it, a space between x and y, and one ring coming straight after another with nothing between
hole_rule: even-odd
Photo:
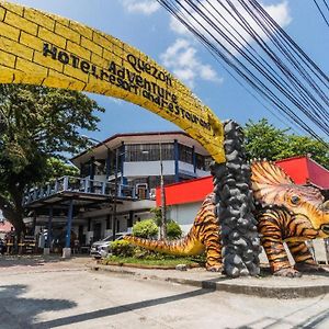
<instances>
[{"instance_id":1,"label":"concrete curb edging the road in front of the dinosaur statue","mask_svg":"<svg viewBox=\"0 0 329 329\"><path fill-rule=\"evenodd\" d=\"M88 268L92 271L105 271L112 273L120 274L128 274L128 275L137 275L143 279L149 280L159 280L179 284L192 285L201 288L213 290L218 292L226 292L232 294L243 294L249 296L258 296L265 298L280 298L280 299L292 299L292 298L309 298L316 297L319 295L325 295L329 293L329 284L327 285L307 285L307 286L297 286L298 279L286 279L286 280L296 280L294 286L280 286L280 282L277 286L275 285L253 285L253 284L237 284L235 283L235 279L224 279L220 282L215 280L193 280L193 279L182 279L167 275L157 275L154 273L145 274L138 273L134 271L135 269L128 269L125 266L110 266L110 265L88 265ZM164 273L167 271L163 271ZM162 273L163 274L163 273Z\"/></svg>"}]
</instances>

